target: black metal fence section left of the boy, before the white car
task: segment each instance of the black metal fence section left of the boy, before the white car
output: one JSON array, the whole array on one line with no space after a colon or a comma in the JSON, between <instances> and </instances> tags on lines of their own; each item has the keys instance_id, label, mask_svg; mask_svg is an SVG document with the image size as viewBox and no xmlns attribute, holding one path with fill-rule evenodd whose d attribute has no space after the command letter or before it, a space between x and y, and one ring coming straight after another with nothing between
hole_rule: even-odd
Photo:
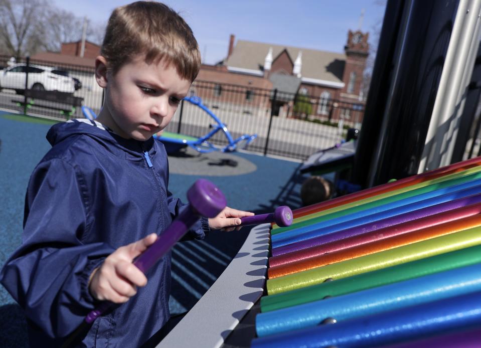
<instances>
[{"instance_id":1,"label":"black metal fence section left of the boy, before the white car","mask_svg":"<svg viewBox=\"0 0 481 348\"><path fill-rule=\"evenodd\" d=\"M83 117L80 105L96 111L102 105L103 89L97 85L93 66L0 56L0 69L0 107L4 109L62 120ZM29 90L35 97L29 97Z\"/></svg>"}]
</instances>

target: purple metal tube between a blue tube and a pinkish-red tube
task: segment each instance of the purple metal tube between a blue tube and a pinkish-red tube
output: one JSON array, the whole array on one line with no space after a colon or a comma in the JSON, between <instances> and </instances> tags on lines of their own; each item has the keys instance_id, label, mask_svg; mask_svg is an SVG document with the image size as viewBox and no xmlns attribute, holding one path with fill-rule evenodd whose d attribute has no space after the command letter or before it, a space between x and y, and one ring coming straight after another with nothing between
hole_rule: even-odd
<instances>
[{"instance_id":1,"label":"purple metal tube between a blue tube and a pinkish-red tube","mask_svg":"<svg viewBox=\"0 0 481 348\"><path fill-rule=\"evenodd\" d=\"M431 207L426 207L423 209L419 209L416 211L412 211L409 213L404 213L400 215L396 215L390 218L382 219L379 221L371 222L368 224L356 226L353 228L349 228L346 230L341 230L338 232L333 232L327 235L322 235L319 237L307 239L304 241L300 241L297 243L293 244L288 244L284 245L278 248L273 248L272 249L272 256L279 256L287 253L291 253L294 251L298 250L303 250L307 248L311 248L314 246L319 246L323 245L326 243L331 243L335 241L339 241L341 239L349 238L349 237L354 237L361 235L363 233L371 232L371 231L377 231L385 227L390 227L394 226L397 224L401 224L403 222L408 222L416 219L421 219L426 216L431 216L437 213L441 212L446 212L450 211L453 209L461 208L461 207L466 207L469 205L476 205L481 203L481 194L477 195L472 195L469 197L464 197L460 198L458 200L450 201L450 202L445 202L441 204L436 204Z\"/></svg>"}]
</instances>

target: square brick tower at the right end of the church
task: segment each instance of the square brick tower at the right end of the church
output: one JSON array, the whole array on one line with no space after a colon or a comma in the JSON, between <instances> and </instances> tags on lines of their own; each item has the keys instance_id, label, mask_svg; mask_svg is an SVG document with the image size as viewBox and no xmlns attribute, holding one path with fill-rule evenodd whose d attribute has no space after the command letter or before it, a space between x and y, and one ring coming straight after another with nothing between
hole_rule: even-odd
<instances>
[{"instance_id":1,"label":"square brick tower at the right end of the church","mask_svg":"<svg viewBox=\"0 0 481 348\"><path fill-rule=\"evenodd\" d=\"M362 100L362 82L364 69L369 55L368 44L369 33L349 31L348 42L344 46L346 52L346 65L344 67L343 82L344 87L341 91L342 99L356 102Z\"/></svg>"}]
</instances>

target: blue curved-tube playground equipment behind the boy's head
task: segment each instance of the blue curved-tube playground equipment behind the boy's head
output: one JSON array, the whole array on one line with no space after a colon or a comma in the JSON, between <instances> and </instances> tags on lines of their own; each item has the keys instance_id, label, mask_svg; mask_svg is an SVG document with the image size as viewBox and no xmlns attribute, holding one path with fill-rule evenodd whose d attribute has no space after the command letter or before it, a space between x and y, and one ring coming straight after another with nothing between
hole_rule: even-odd
<instances>
[{"instance_id":1,"label":"blue curved-tube playground equipment behind the boy's head","mask_svg":"<svg viewBox=\"0 0 481 348\"><path fill-rule=\"evenodd\" d=\"M153 137L159 141L162 141L166 147L167 153L173 153L181 148L190 146L194 149L196 149L199 152L211 152L211 151L222 151L222 152L232 152L237 150L239 148L239 143L243 141L243 146L242 148L245 148L252 140L254 140L257 137L257 134L244 134L238 137L237 139L234 139L232 135L229 133L227 130L227 126L222 123L222 121L211 111L202 104L202 100L199 97L192 96L192 97L185 97L184 100L199 106L202 110L207 112L209 116L211 116L215 121L216 124L213 125L213 129L207 133L204 136L201 136L200 138L196 138L193 136L189 135L184 135L184 134L178 134L178 133L172 133L172 132L167 132L163 131L160 136L154 135ZM82 106L82 112L84 116L90 120L95 119L97 116L95 115L95 112L92 111L87 106ZM211 138L214 134L216 134L218 131L223 131L228 144L225 145L224 147L217 147L211 142L209 142L209 138Z\"/></svg>"}]
</instances>

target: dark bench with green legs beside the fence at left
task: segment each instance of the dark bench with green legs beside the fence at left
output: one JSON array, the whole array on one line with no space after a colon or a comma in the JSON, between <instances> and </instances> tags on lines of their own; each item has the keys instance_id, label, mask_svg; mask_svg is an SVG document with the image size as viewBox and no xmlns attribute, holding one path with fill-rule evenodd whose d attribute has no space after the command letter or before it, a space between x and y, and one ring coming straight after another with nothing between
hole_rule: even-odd
<instances>
[{"instance_id":1,"label":"dark bench with green legs beside the fence at left","mask_svg":"<svg viewBox=\"0 0 481 348\"><path fill-rule=\"evenodd\" d=\"M27 108L43 107L52 110L59 110L62 115L72 116L75 113L77 107L82 106L83 98L75 97L72 93L59 92L59 91L38 91L33 89L25 90L25 101L12 100L19 106ZM30 100L28 100L30 99ZM37 104L36 100L46 100L63 105L43 105ZM68 105L68 106L67 106Z\"/></svg>"}]
</instances>

